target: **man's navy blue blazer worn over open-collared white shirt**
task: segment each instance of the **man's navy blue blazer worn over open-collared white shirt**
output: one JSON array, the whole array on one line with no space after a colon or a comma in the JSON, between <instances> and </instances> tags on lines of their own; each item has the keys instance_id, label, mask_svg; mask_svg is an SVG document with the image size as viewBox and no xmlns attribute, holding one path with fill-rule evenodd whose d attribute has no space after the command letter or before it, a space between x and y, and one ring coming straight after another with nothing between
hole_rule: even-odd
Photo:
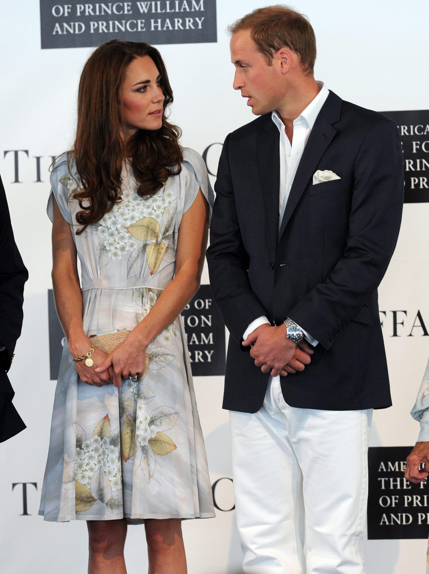
<instances>
[{"instance_id":1,"label":"man's navy blue blazer worn over open-collared white shirt","mask_svg":"<svg viewBox=\"0 0 429 574\"><path fill-rule=\"evenodd\" d=\"M223 145L207 250L214 299L231 336L223 408L256 412L268 374L242 335L257 317L290 317L319 341L311 364L281 377L295 407L390 406L377 288L401 223L403 153L396 125L330 92L308 138L280 233L279 130L271 114ZM316 170L341 179L312 184Z\"/></svg>"}]
</instances>

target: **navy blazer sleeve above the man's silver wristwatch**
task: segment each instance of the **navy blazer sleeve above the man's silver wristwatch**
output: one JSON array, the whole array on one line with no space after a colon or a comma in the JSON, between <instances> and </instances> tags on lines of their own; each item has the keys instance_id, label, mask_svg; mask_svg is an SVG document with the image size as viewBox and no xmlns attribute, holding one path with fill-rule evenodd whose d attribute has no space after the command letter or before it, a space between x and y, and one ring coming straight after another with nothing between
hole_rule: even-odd
<instances>
[{"instance_id":1,"label":"navy blazer sleeve above the man's silver wristwatch","mask_svg":"<svg viewBox=\"0 0 429 574\"><path fill-rule=\"evenodd\" d=\"M354 168L349 232L343 257L289 313L328 350L376 291L387 270L401 224L404 159L397 127L377 123L362 142Z\"/></svg>"}]
</instances>

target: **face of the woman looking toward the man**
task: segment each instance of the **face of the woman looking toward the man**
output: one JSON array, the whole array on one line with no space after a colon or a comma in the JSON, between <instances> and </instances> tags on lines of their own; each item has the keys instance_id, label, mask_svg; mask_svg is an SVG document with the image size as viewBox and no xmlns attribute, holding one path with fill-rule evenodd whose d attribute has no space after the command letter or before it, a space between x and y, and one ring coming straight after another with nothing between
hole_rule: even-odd
<instances>
[{"instance_id":1,"label":"face of the woman looking toward the man","mask_svg":"<svg viewBox=\"0 0 429 574\"><path fill-rule=\"evenodd\" d=\"M160 73L150 56L139 56L128 66L122 84L123 132L159 130L163 124L164 94Z\"/></svg>"}]
</instances>

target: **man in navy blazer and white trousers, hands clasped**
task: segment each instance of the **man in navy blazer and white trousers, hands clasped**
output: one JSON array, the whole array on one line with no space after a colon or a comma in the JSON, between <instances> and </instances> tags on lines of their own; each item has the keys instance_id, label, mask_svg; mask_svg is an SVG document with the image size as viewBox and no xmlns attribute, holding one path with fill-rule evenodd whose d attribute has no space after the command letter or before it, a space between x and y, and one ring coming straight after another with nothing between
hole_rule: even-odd
<instances>
[{"instance_id":1,"label":"man in navy blazer and white trousers, hands clasped","mask_svg":"<svg viewBox=\"0 0 429 574\"><path fill-rule=\"evenodd\" d=\"M223 145L207 260L231 333L243 569L361 574L372 409L391 405L377 288L401 222L399 133L316 82L303 15L259 9L230 32L234 89L260 117Z\"/></svg>"}]
</instances>

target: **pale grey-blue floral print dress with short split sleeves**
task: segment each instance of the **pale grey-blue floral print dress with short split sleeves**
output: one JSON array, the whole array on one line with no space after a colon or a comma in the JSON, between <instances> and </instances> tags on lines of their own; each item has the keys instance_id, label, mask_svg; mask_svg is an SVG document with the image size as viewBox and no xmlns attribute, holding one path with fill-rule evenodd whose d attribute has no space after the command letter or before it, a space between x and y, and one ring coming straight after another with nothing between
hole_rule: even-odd
<instances>
[{"instance_id":1,"label":"pale grey-blue floral print dress with short split sleeves","mask_svg":"<svg viewBox=\"0 0 429 574\"><path fill-rule=\"evenodd\" d=\"M202 158L184 149L181 173L148 199L137 195L129 164L122 198L76 235L80 185L67 155L51 174L53 197L73 227L87 335L135 327L175 272L181 217L199 188L213 192ZM181 317L146 349L137 382L96 387L80 381L64 344L39 514L48 521L214 516L206 452Z\"/></svg>"}]
</instances>

